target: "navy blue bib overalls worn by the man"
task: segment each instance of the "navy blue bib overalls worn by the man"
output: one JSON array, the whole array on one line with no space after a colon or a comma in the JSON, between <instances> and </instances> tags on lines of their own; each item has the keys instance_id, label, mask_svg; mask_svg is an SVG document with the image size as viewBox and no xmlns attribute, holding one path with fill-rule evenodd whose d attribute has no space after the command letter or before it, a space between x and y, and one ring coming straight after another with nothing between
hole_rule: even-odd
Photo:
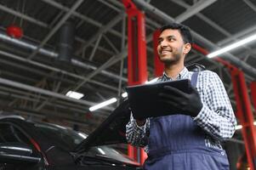
<instances>
[{"instance_id":1,"label":"navy blue bib overalls worn by the man","mask_svg":"<svg viewBox=\"0 0 256 170\"><path fill-rule=\"evenodd\" d=\"M198 72L191 84L196 87ZM172 115L151 118L147 170L228 170L225 150L205 145L205 133L191 116Z\"/></svg>"}]
</instances>

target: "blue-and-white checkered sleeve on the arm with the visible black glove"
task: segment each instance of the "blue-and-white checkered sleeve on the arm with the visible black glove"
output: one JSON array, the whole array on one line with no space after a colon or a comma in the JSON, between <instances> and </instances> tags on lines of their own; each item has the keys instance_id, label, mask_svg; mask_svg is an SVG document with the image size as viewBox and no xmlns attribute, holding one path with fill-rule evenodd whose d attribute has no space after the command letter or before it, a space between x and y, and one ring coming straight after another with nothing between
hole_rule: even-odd
<instances>
[{"instance_id":1,"label":"blue-and-white checkered sleeve on the arm with the visible black glove","mask_svg":"<svg viewBox=\"0 0 256 170\"><path fill-rule=\"evenodd\" d=\"M200 78L200 75L199 77ZM202 110L193 118L199 127L215 139L230 139L235 133L236 117L219 76L208 71L202 74L198 89Z\"/></svg>"}]
</instances>

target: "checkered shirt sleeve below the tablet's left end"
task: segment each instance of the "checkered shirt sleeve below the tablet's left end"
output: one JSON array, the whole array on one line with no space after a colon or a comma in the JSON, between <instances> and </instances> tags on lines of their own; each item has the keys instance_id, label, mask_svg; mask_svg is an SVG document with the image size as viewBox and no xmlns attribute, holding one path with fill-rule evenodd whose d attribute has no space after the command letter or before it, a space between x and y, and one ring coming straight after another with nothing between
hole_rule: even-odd
<instances>
[{"instance_id":1,"label":"checkered shirt sleeve below the tablet's left end","mask_svg":"<svg viewBox=\"0 0 256 170\"><path fill-rule=\"evenodd\" d=\"M139 127L133 114L126 125L126 139L129 144L139 147L145 147L148 143L150 121L146 119L145 125Z\"/></svg>"}]
</instances>

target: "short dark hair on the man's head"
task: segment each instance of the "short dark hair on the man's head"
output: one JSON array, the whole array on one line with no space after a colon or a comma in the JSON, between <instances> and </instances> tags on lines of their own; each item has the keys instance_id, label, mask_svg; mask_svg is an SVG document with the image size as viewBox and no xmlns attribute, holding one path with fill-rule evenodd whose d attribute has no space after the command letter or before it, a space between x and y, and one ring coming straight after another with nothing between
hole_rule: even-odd
<instances>
[{"instance_id":1,"label":"short dark hair on the man's head","mask_svg":"<svg viewBox=\"0 0 256 170\"><path fill-rule=\"evenodd\" d=\"M188 26L184 26L184 25L178 24L178 23L171 23L171 24L162 26L160 28L160 31L162 32L162 31L165 31L168 29L179 30L181 37L183 39L183 42L192 44L193 38L191 35L191 29Z\"/></svg>"}]
</instances>

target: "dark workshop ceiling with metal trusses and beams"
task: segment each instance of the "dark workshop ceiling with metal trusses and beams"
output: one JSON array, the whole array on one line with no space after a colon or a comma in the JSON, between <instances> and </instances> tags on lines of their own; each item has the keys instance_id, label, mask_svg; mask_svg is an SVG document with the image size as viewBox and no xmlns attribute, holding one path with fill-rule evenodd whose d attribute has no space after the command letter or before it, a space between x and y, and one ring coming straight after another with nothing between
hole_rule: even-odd
<instances>
[{"instance_id":1,"label":"dark workshop ceiling with metal trusses and beams","mask_svg":"<svg viewBox=\"0 0 256 170\"><path fill-rule=\"evenodd\" d=\"M213 51L256 32L253 0L134 0L145 12L149 79L153 77L152 33L167 22L190 26L195 42ZM120 98L127 85L127 14L117 0L2 0L0 2L0 111L43 119L90 132L117 106L90 113L96 103ZM60 28L75 26L71 62L58 62ZM12 24L22 27L20 39L6 35ZM223 58L255 79L256 43ZM236 111L229 71L193 50L185 63L197 62L224 81ZM84 94L65 96L69 90ZM250 93L250 91L248 91Z\"/></svg>"}]
</instances>

